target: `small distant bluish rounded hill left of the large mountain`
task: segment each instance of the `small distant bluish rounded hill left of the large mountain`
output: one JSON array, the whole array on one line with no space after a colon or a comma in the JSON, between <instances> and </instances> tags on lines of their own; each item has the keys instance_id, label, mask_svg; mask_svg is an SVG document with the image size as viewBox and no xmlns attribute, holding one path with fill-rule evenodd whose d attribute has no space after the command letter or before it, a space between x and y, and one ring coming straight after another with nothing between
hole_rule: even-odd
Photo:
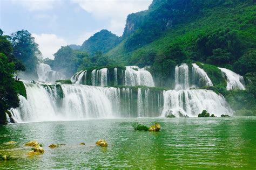
<instances>
[{"instance_id":1,"label":"small distant bluish rounded hill left of the large mountain","mask_svg":"<svg viewBox=\"0 0 256 170\"><path fill-rule=\"evenodd\" d=\"M117 37L112 32L102 30L84 41L80 50L86 51L89 54L95 54L98 51L105 53L119 44L120 41L121 38Z\"/></svg>"}]
</instances>

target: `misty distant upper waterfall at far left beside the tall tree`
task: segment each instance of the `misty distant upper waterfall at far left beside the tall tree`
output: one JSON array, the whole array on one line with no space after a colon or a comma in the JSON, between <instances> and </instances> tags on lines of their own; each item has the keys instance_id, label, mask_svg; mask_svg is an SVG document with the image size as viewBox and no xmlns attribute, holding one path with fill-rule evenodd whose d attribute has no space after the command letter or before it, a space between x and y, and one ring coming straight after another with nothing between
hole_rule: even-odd
<instances>
[{"instance_id":1,"label":"misty distant upper waterfall at far left beside the tall tree","mask_svg":"<svg viewBox=\"0 0 256 170\"><path fill-rule=\"evenodd\" d=\"M39 63L37 65L38 81L50 81L65 79L65 75L60 72L53 71L49 65L45 63Z\"/></svg>"}]
</instances>

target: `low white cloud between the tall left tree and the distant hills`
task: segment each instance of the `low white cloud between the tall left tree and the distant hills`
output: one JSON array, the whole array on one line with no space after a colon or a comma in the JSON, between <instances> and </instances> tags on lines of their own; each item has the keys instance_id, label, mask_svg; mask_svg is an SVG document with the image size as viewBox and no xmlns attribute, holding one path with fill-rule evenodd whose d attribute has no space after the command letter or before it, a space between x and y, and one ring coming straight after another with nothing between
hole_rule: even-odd
<instances>
[{"instance_id":1,"label":"low white cloud between the tall left tree and the distant hills","mask_svg":"<svg viewBox=\"0 0 256 170\"><path fill-rule=\"evenodd\" d=\"M54 59L53 54L56 53L61 46L68 45L63 38L59 38L55 34L32 33L32 37L35 37L35 41L39 45L39 50L42 52L43 58Z\"/></svg>"}]
</instances>

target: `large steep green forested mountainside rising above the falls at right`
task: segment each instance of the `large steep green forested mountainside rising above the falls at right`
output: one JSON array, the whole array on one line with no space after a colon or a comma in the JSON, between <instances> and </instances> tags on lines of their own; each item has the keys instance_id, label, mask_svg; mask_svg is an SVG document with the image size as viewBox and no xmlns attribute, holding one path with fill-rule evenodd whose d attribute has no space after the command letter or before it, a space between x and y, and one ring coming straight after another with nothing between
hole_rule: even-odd
<instances>
[{"instance_id":1,"label":"large steep green forested mountainside rising above the falls at right","mask_svg":"<svg viewBox=\"0 0 256 170\"><path fill-rule=\"evenodd\" d=\"M154 0L149 10L127 17L124 40L107 55L145 66L178 49L184 61L233 65L255 48L255 11L252 0ZM180 62L176 56L172 60Z\"/></svg>"}]
</instances>

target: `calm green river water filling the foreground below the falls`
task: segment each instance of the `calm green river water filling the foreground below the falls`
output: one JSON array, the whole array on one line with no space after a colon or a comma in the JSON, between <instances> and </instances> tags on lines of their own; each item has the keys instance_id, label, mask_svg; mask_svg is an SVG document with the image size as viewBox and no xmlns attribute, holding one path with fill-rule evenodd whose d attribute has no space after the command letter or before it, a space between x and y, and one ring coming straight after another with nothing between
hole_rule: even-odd
<instances>
[{"instance_id":1,"label":"calm green river water filling the foreground below the falls","mask_svg":"<svg viewBox=\"0 0 256 170\"><path fill-rule=\"evenodd\" d=\"M134 131L158 122L160 132ZM103 138L108 147L96 146ZM6 144L14 140L16 144ZM37 140L45 153L26 156ZM84 142L85 145L79 145ZM50 144L65 144L49 148ZM98 119L0 126L0 169L256 168L256 117Z\"/></svg>"}]
</instances>

